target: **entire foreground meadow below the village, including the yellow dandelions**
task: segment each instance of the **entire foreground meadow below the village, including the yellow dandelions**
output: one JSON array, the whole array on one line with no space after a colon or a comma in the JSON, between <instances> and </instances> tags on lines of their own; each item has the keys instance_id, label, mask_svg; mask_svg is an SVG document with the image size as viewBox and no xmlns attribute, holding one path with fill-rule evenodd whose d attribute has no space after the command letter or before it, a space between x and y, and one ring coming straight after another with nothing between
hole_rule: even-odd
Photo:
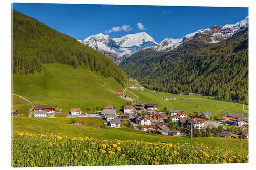
<instances>
[{"instance_id":1,"label":"entire foreground meadow below the village, including the yellow dandelions","mask_svg":"<svg viewBox=\"0 0 256 170\"><path fill-rule=\"evenodd\" d=\"M13 167L246 163L248 140L102 128L100 118L13 118Z\"/></svg>"}]
</instances>

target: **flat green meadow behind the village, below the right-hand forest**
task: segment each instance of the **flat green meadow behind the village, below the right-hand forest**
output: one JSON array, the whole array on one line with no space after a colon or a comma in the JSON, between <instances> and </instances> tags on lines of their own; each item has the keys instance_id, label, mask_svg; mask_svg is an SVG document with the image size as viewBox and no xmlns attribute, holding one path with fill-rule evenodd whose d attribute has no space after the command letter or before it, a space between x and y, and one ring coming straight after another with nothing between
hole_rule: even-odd
<instances>
[{"instance_id":1,"label":"flat green meadow behind the village, below the right-hand forest","mask_svg":"<svg viewBox=\"0 0 256 170\"><path fill-rule=\"evenodd\" d=\"M212 116L219 116L223 113L242 114L243 104L217 101L207 99L207 96L200 94L196 95L185 95L185 94L170 94L164 92L154 92L144 88L144 90L127 89L126 93L134 100L140 102L152 102L157 103L159 108L162 110L167 107L167 110L184 110L185 113L201 113L202 111L210 111ZM139 98L137 98L138 96ZM183 98L184 100L163 100L163 98ZM248 105L245 105L245 110L248 111Z\"/></svg>"}]
</instances>

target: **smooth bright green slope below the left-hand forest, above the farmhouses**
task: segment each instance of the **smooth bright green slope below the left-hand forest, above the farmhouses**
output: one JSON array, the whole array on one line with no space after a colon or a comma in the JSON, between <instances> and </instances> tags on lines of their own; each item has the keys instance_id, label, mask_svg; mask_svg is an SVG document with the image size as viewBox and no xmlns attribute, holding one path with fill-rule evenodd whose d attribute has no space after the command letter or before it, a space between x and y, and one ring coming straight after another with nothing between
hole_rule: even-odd
<instances>
[{"instance_id":1,"label":"smooth bright green slope below the left-hand forest, above the farmhouses","mask_svg":"<svg viewBox=\"0 0 256 170\"><path fill-rule=\"evenodd\" d=\"M127 102L115 95L123 87L114 78L105 78L86 67L74 69L60 64L46 64L41 72L33 74L14 74L13 90L33 105L57 105L66 113L71 107L86 111L108 104L119 110Z\"/></svg>"}]
</instances>

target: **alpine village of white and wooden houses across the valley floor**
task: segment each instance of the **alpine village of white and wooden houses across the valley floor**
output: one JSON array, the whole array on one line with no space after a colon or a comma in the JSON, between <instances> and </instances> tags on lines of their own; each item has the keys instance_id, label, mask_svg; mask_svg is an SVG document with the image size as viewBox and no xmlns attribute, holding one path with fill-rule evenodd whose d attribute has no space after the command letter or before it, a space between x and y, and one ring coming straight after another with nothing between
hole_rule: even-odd
<instances>
[{"instance_id":1,"label":"alpine village of white and wooden houses across the valley floor","mask_svg":"<svg viewBox=\"0 0 256 170\"><path fill-rule=\"evenodd\" d=\"M117 92L116 95L120 98L126 97L125 92ZM163 100L169 100L169 98L164 98ZM56 118L53 117L54 113L61 112L62 110L56 107L56 105L35 106L33 108L33 117ZM12 110L11 114L12 116L20 116L16 110ZM72 117L98 117L104 119L104 125L109 127L120 128L121 124L127 123L128 127L147 133L184 137L192 137L192 134L184 134L180 132L180 129L204 132L208 127L217 128L222 126L223 131L218 134L220 137L248 139L248 117L243 115L225 113L219 115L218 121L216 121L212 118L209 111L202 111L202 114L198 117L192 117L184 113L183 110L164 112L158 109L158 104L156 103L145 104L140 101L134 101L134 105L124 105L120 113L117 113L117 110L112 105L107 105L93 113L86 112L83 115L81 108L70 108L68 116L65 118ZM243 131L233 134L225 130L227 125L243 127ZM176 128L173 128L174 126Z\"/></svg>"}]
</instances>

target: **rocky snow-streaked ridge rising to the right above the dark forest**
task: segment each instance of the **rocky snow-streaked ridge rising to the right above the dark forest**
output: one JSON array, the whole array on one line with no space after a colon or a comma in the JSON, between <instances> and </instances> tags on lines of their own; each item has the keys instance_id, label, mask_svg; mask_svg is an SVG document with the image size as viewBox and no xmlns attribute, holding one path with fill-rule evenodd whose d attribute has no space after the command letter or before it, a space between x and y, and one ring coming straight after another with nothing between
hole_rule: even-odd
<instances>
[{"instance_id":1,"label":"rocky snow-streaked ridge rising to the right above the dark forest","mask_svg":"<svg viewBox=\"0 0 256 170\"><path fill-rule=\"evenodd\" d=\"M154 47L157 51L172 50L175 47L187 42L193 38L198 38L202 41L209 43L218 43L221 40L226 40L232 37L235 33L248 27L249 17L245 17L243 20L235 24L226 24L223 27L212 26L211 28L198 30L194 33L185 35L182 38L165 38L157 47Z\"/></svg>"}]
</instances>

